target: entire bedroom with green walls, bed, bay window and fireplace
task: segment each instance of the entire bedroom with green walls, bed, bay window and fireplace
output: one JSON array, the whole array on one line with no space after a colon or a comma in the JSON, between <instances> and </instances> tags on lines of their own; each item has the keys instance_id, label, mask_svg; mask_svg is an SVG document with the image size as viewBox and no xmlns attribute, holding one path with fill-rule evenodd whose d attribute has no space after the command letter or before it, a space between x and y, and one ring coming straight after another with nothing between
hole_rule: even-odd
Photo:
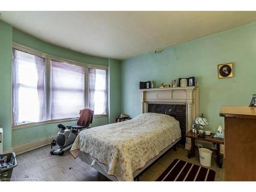
<instances>
[{"instance_id":1,"label":"entire bedroom with green walls, bed, bay window and fireplace","mask_svg":"<svg viewBox=\"0 0 256 192\"><path fill-rule=\"evenodd\" d=\"M1 177L255 181L255 11L0 15Z\"/></svg>"}]
</instances>

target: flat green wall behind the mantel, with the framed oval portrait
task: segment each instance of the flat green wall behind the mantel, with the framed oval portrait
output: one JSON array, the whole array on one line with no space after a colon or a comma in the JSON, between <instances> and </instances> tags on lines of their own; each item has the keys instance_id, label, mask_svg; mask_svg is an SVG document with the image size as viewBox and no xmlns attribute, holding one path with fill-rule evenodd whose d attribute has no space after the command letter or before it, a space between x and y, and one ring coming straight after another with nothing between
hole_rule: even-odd
<instances>
[{"instance_id":1,"label":"flat green wall behind the mantel, with the framed oval portrait","mask_svg":"<svg viewBox=\"0 0 256 192\"><path fill-rule=\"evenodd\" d=\"M234 77L218 78L217 66L233 62ZM209 120L207 130L224 124L221 105L246 105L256 93L256 23L231 29L121 62L121 112L140 114L139 81L170 83L196 77L199 113Z\"/></svg>"}]
</instances>

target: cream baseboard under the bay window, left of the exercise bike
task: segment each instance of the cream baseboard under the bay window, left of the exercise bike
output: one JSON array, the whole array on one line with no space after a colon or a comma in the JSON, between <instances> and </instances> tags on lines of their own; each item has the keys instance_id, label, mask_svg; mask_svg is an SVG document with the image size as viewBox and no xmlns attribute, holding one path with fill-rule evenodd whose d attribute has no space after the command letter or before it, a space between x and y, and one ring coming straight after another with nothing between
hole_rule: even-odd
<instances>
[{"instance_id":1,"label":"cream baseboard under the bay window, left of the exercise bike","mask_svg":"<svg viewBox=\"0 0 256 192\"><path fill-rule=\"evenodd\" d=\"M53 139L56 139L56 137L57 135L52 135L52 136L44 137L31 142L15 145L12 148L15 154L18 155L18 154L22 154L22 153L34 150L35 148L38 148L38 147L48 145L52 142ZM50 153L50 148L49 148L49 153Z\"/></svg>"}]
</instances>

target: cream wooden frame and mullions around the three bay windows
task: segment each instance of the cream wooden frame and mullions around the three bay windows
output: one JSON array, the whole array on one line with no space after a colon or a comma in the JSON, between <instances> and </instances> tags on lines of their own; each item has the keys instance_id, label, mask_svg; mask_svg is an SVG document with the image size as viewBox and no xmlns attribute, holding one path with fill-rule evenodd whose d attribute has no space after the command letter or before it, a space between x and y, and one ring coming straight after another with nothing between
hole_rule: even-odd
<instances>
[{"instance_id":1,"label":"cream wooden frame and mullions around the three bay windows","mask_svg":"<svg viewBox=\"0 0 256 192\"><path fill-rule=\"evenodd\" d=\"M89 68L94 69L102 69L108 71L108 66L97 66L97 65L90 65L88 63L78 62L70 59L65 59L57 56L48 55L46 53L42 53L40 51L12 43L12 48L17 49L32 55L36 55L42 58L45 58L46 62L46 73L45 73L45 84L46 84L46 121L40 121L40 122L34 122L34 123L24 123L24 124L18 124L18 125L12 125L12 130L17 129L23 129L26 127L36 126L36 125L42 125L42 124L48 124L48 123L56 123L56 122L64 122L64 121L75 121L77 118L66 118L66 119L56 119L51 120L51 60L57 61L57 62L63 62L68 63L69 65L84 67L85 73L84 73L84 108L88 108L89 101L88 101L88 94L89 94ZM107 73L108 74L108 73ZM108 78L108 76L106 77ZM106 79L106 82L108 82L108 79ZM108 87L109 91L109 87ZM108 98L109 102L109 98ZM94 118L97 117L108 117L108 114L104 115L94 115Z\"/></svg>"}]
</instances>

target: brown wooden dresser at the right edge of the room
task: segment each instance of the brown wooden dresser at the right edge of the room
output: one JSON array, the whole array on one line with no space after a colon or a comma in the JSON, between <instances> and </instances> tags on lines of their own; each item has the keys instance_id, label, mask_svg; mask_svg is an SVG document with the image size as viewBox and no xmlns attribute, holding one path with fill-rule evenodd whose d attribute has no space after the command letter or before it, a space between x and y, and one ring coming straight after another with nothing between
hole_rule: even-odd
<instances>
[{"instance_id":1,"label":"brown wooden dresser at the right edge of the room","mask_svg":"<svg viewBox=\"0 0 256 192\"><path fill-rule=\"evenodd\" d=\"M256 181L256 108L222 106L225 117L225 180Z\"/></svg>"}]
</instances>

